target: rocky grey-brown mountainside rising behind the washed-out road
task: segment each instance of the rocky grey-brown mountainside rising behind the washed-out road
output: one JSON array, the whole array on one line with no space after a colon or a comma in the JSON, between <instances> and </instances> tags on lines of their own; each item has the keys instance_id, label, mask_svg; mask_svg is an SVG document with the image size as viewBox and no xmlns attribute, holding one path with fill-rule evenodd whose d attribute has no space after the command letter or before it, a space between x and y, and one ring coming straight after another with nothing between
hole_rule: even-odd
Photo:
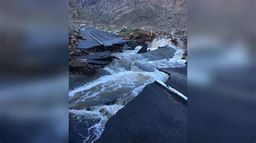
<instances>
[{"instance_id":1,"label":"rocky grey-brown mountainside rising behind the washed-out road","mask_svg":"<svg viewBox=\"0 0 256 143\"><path fill-rule=\"evenodd\" d=\"M70 0L70 20L118 27L181 30L186 27L186 0ZM78 14L78 16L77 16Z\"/></svg>"}]
</instances>

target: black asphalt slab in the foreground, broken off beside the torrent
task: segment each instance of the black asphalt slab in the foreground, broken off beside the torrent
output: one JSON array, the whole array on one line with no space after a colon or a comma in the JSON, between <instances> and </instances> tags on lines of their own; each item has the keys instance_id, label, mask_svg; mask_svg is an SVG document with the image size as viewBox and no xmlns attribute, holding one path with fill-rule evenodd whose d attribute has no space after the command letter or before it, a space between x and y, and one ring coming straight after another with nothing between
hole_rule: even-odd
<instances>
[{"instance_id":1,"label":"black asphalt slab in the foreground, broken off beside the torrent","mask_svg":"<svg viewBox=\"0 0 256 143\"><path fill-rule=\"evenodd\" d=\"M151 83L107 121L96 142L186 141L186 101Z\"/></svg>"}]
</instances>

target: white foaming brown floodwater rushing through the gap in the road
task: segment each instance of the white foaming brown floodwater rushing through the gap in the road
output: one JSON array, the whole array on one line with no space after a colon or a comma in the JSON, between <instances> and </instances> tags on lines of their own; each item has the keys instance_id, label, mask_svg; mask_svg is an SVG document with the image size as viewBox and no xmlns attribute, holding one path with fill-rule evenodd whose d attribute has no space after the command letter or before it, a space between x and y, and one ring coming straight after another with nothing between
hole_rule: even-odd
<instances>
[{"instance_id":1,"label":"white foaming brown floodwater rushing through the gap in the road","mask_svg":"<svg viewBox=\"0 0 256 143\"><path fill-rule=\"evenodd\" d=\"M167 42L159 43L161 46ZM153 45L159 46L156 43ZM167 81L169 76L156 68L185 66L186 60L181 60L183 49L173 47L178 49L173 58L150 61L144 54L137 54L140 48L113 53L112 55L120 60L113 60L105 67L111 75L69 92L69 112L72 118L89 126L84 129L87 130L86 133L80 134L85 139L84 142L97 140L104 130L106 121L136 97L147 84Z\"/></svg>"}]
</instances>

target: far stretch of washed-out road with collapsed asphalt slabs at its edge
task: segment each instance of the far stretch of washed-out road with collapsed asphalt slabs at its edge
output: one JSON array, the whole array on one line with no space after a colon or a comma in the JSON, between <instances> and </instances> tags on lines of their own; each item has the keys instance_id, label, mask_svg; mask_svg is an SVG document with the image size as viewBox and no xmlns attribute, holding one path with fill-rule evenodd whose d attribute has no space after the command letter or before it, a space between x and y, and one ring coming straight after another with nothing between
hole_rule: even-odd
<instances>
[{"instance_id":1,"label":"far stretch of washed-out road with collapsed asphalt slabs at its edge","mask_svg":"<svg viewBox=\"0 0 256 143\"><path fill-rule=\"evenodd\" d=\"M143 46L138 53L147 52L148 45L142 41L134 39L125 40L123 37L117 37L117 35L96 30L95 27L85 27L79 31L79 35L82 38L78 38L77 49L82 51L82 53L76 54L77 56L73 62L86 59L87 63L91 65L107 65L113 59L118 59L115 56L111 56L111 52L123 52L127 47L134 49L138 45Z\"/></svg>"}]
</instances>

